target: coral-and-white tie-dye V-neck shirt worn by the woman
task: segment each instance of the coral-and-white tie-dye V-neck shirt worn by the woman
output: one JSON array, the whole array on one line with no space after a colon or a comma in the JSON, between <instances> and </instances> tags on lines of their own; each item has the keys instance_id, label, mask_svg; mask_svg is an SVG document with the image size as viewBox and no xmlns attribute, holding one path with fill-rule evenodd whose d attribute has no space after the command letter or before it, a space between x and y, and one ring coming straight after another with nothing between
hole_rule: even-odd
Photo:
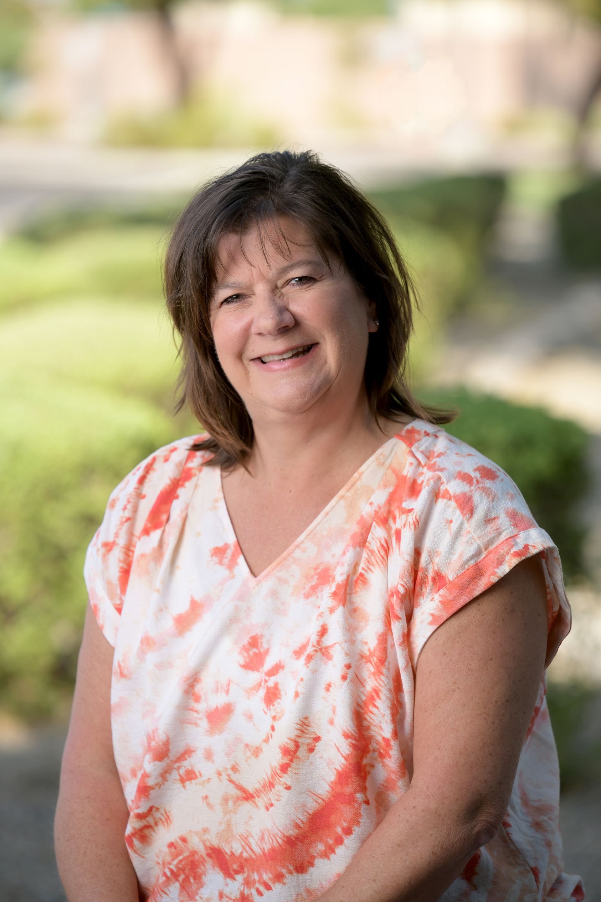
<instances>
[{"instance_id":1,"label":"coral-and-white tie-dye V-neck shirt worn by the woman","mask_svg":"<svg viewBox=\"0 0 601 902\"><path fill-rule=\"evenodd\" d=\"M560 559L502 470L416 419L253 576L197 439L125 477L87 552L125 841L152 902L309 902L410 785L424 642L541 553L549 662L569 630ZM543 676L503 825L444 902L583 898L558 806Z\"/></svg>"}]
</instances>

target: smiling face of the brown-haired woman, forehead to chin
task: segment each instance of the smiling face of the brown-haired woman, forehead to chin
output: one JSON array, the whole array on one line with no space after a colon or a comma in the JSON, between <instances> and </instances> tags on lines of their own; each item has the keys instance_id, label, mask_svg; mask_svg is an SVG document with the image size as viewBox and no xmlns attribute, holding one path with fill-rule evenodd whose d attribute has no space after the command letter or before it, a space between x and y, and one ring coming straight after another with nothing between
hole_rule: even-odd
<instances>
[{"instance_id":1,"label":"smiling face of the brown-haired woman, forehead to chin","mask_svg":"<svg viewBox=\"0 0 601 902\"><path fill-rule=\"evenodd\" d=\"M251 419L321 403L339 412L363 385L375 311L345 270L323 262L304 226L225 235L211 298L214 345ZM278 240L279 239L279 240Z\"/></svg>"}]
</instances>

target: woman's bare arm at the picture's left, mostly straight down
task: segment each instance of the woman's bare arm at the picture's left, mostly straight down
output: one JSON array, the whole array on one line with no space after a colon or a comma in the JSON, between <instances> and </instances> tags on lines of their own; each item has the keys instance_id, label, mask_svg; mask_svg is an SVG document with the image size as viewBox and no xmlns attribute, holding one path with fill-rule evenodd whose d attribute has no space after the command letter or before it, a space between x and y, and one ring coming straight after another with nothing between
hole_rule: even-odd
<instances>
[{"instance_id":1,"label":"woman's bare arm at the picture's left, mostly straight down","mask_svg":"<svg viewBox=\"0 0 601 902\"><path fill-rule=\"evenodd\" d=\"M57 863L68 902L139 899L123 840L128 812L111 738L113 652L88 604L54 821Z\"/></svg>"}]
</instances>

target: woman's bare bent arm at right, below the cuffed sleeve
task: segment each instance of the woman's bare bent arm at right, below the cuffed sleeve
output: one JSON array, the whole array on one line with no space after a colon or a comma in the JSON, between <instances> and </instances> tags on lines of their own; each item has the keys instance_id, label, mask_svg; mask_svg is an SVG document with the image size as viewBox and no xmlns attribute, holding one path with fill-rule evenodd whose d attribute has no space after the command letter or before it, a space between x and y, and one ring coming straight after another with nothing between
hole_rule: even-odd
<instances>
[{"instance_id":1,"label":"woman's bare bent arm at right, below the cuffed sleeve","mask_svg":"<svg viewBox=\"0 0 601 902\"><path fill-rule=\"evenodd\" d=\"M546 644L538 555L435 630L417 663L411 787L320 902L434 902L493 838Z\"/></svg>"}]
</instances>

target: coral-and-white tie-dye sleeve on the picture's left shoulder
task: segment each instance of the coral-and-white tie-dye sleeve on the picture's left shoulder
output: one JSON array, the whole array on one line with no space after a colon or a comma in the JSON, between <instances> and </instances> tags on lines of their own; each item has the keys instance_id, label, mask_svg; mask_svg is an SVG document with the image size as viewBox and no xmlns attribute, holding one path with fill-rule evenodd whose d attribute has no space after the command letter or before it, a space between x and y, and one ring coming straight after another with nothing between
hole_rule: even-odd
<instances>
[{"instance_id":1,"label":"coral-and-white tie-dye sleeve on the picture's left shoulder","mask_svg":"<svg viewBox=\"0 0 601 902\"><path fill-rule=\"evenodd\" d=\"M141 461L111 492L105 516L87 548L84 564L89 601L106 640L115 645L132 563L140 540L154 538L169 519L183 480L202 453L190 451L199 437L178 439Z\"/></svg>"}]
</instances>

